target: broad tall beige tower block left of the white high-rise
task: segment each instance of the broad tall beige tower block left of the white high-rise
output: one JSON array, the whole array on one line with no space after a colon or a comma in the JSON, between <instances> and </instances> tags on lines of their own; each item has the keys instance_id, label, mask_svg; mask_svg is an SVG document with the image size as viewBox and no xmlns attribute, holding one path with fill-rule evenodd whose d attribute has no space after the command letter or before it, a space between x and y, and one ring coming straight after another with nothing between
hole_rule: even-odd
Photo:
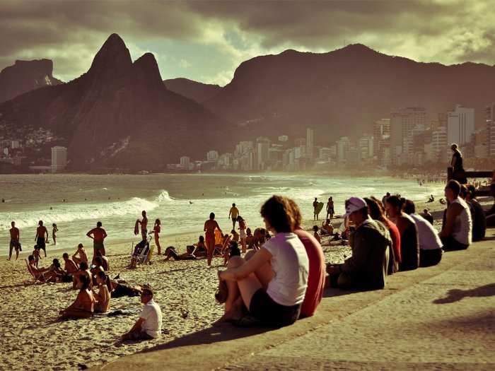
<instances>
[{"instance_id":1,"label":"broad tall beige tower block left of the white high-rise","mask_svg":"<svg viewBox=\"0 0 495 371\"><path fill-rule=\"evenodd\" d=\"M413 162L413 129L425 128L426 109L405 107L390 112L390 155L392 165Z\"/></svg>"}]
</instances>

